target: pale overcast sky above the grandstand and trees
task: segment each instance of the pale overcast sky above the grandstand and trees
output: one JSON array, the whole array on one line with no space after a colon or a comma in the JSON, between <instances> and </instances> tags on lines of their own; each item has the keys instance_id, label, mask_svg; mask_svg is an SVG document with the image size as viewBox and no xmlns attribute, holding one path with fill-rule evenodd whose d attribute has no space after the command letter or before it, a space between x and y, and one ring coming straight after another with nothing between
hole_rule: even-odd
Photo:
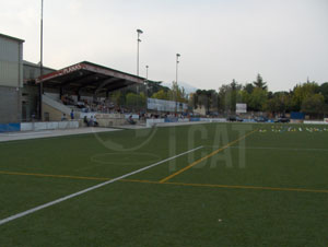
<instances>
[{"instance_id":1,"label":"pale overcast sky above the grandstand and trees","mask_svg":"<svg viewBox=\"0 0 328 247\"><path fill-rule=\"evenodd\" d=\"M260 73L269 90L328 81L328 0L44 0L44 64L80 61L218 90ZM0 0L0 33L39 61L40 0Z\"/></svg>"}]
</instances>

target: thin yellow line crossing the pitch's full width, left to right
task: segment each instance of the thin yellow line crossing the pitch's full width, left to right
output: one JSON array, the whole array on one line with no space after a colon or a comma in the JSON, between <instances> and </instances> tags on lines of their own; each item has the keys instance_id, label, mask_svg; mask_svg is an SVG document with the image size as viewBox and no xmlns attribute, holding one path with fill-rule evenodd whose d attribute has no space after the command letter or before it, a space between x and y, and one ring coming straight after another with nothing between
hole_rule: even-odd
<instances>
[{"instance_id":1,"label":"thin yellow line crossing the pitch's full width, left to right","mask_svg":"<svg viewBox=\"0 0 328 247\"><path fill-rule=\"evenodd\" d=\"M14 173L14 172L3 172L3 170L0 170L0 174L20 175L20 176L36 176L36 177L72 178L72 179L83 179L83 180L110 180L112 179L112 178L105 178L105 177L80 177L80 176L69 176L69 175L31 174L31 173ZM328 193L328 190L304 189L304 188L274 188L274 187L260 187L260 186L186 184L186 183L175 183L175 181L161 183L161 181L139 180L139 179L120 179L119 181L153 184L153 185L175 185L175 186L186 186L186 187L208 187L208 188L227 188L227 189L257 189L257 190Z\"/></svg>"}]
</instances>

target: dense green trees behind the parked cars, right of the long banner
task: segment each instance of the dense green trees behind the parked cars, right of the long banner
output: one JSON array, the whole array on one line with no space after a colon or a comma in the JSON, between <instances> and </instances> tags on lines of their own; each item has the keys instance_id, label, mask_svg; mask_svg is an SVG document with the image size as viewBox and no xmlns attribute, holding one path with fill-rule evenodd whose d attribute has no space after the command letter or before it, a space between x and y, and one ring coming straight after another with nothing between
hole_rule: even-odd
<instances>
[{"instance_id":1,"label":"dense green trees behind the parked cars, right of the long banner","mask_svg":"<svg viewBox=\"0 0 328 247\"><path fill-rule=\"evenodd\" d=\"M297 84L289 92L270 92L260 74L253 83L239 84L235 80L222 85L219 91L198 90L189 104L197 108L204 106L207 111L235 111L236 103L246 103L248 110L282 114L303 111L311 115L328 113L328 82Z\"/></svg>"}]
</instances>

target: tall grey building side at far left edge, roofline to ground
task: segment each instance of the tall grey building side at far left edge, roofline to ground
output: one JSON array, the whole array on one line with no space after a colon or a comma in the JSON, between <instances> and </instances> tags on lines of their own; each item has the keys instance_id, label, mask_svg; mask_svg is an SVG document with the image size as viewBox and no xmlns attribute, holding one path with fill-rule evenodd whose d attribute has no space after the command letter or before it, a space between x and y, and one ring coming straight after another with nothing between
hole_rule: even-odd
<instances>
[{"instance_id":1,"label":"tall grey building side at far left edge, roofline to ground","mask_svg":"<svg viewBox=\"0 0 328 247\"><path fill-rule=\"evenodd\" d=\"M23 43L0 34L0 124L22 120Z\"/></svg>"}]
</instances>

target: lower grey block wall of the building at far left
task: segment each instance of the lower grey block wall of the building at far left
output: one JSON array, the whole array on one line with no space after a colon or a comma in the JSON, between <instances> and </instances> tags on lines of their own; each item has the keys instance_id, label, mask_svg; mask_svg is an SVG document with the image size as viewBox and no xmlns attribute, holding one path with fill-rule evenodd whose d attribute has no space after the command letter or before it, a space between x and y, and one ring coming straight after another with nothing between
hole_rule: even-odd
<instances>
[{"instance_id":1,"label":"lower grey block wall of the building at far left","mask_svg":"<svg viewBox=\"0 0 328 247\"><path fill-rule=\"evenodd\" d=\"M21 121L21 90L0 86L0 124Z\"/></svg>"}]
</instances>

